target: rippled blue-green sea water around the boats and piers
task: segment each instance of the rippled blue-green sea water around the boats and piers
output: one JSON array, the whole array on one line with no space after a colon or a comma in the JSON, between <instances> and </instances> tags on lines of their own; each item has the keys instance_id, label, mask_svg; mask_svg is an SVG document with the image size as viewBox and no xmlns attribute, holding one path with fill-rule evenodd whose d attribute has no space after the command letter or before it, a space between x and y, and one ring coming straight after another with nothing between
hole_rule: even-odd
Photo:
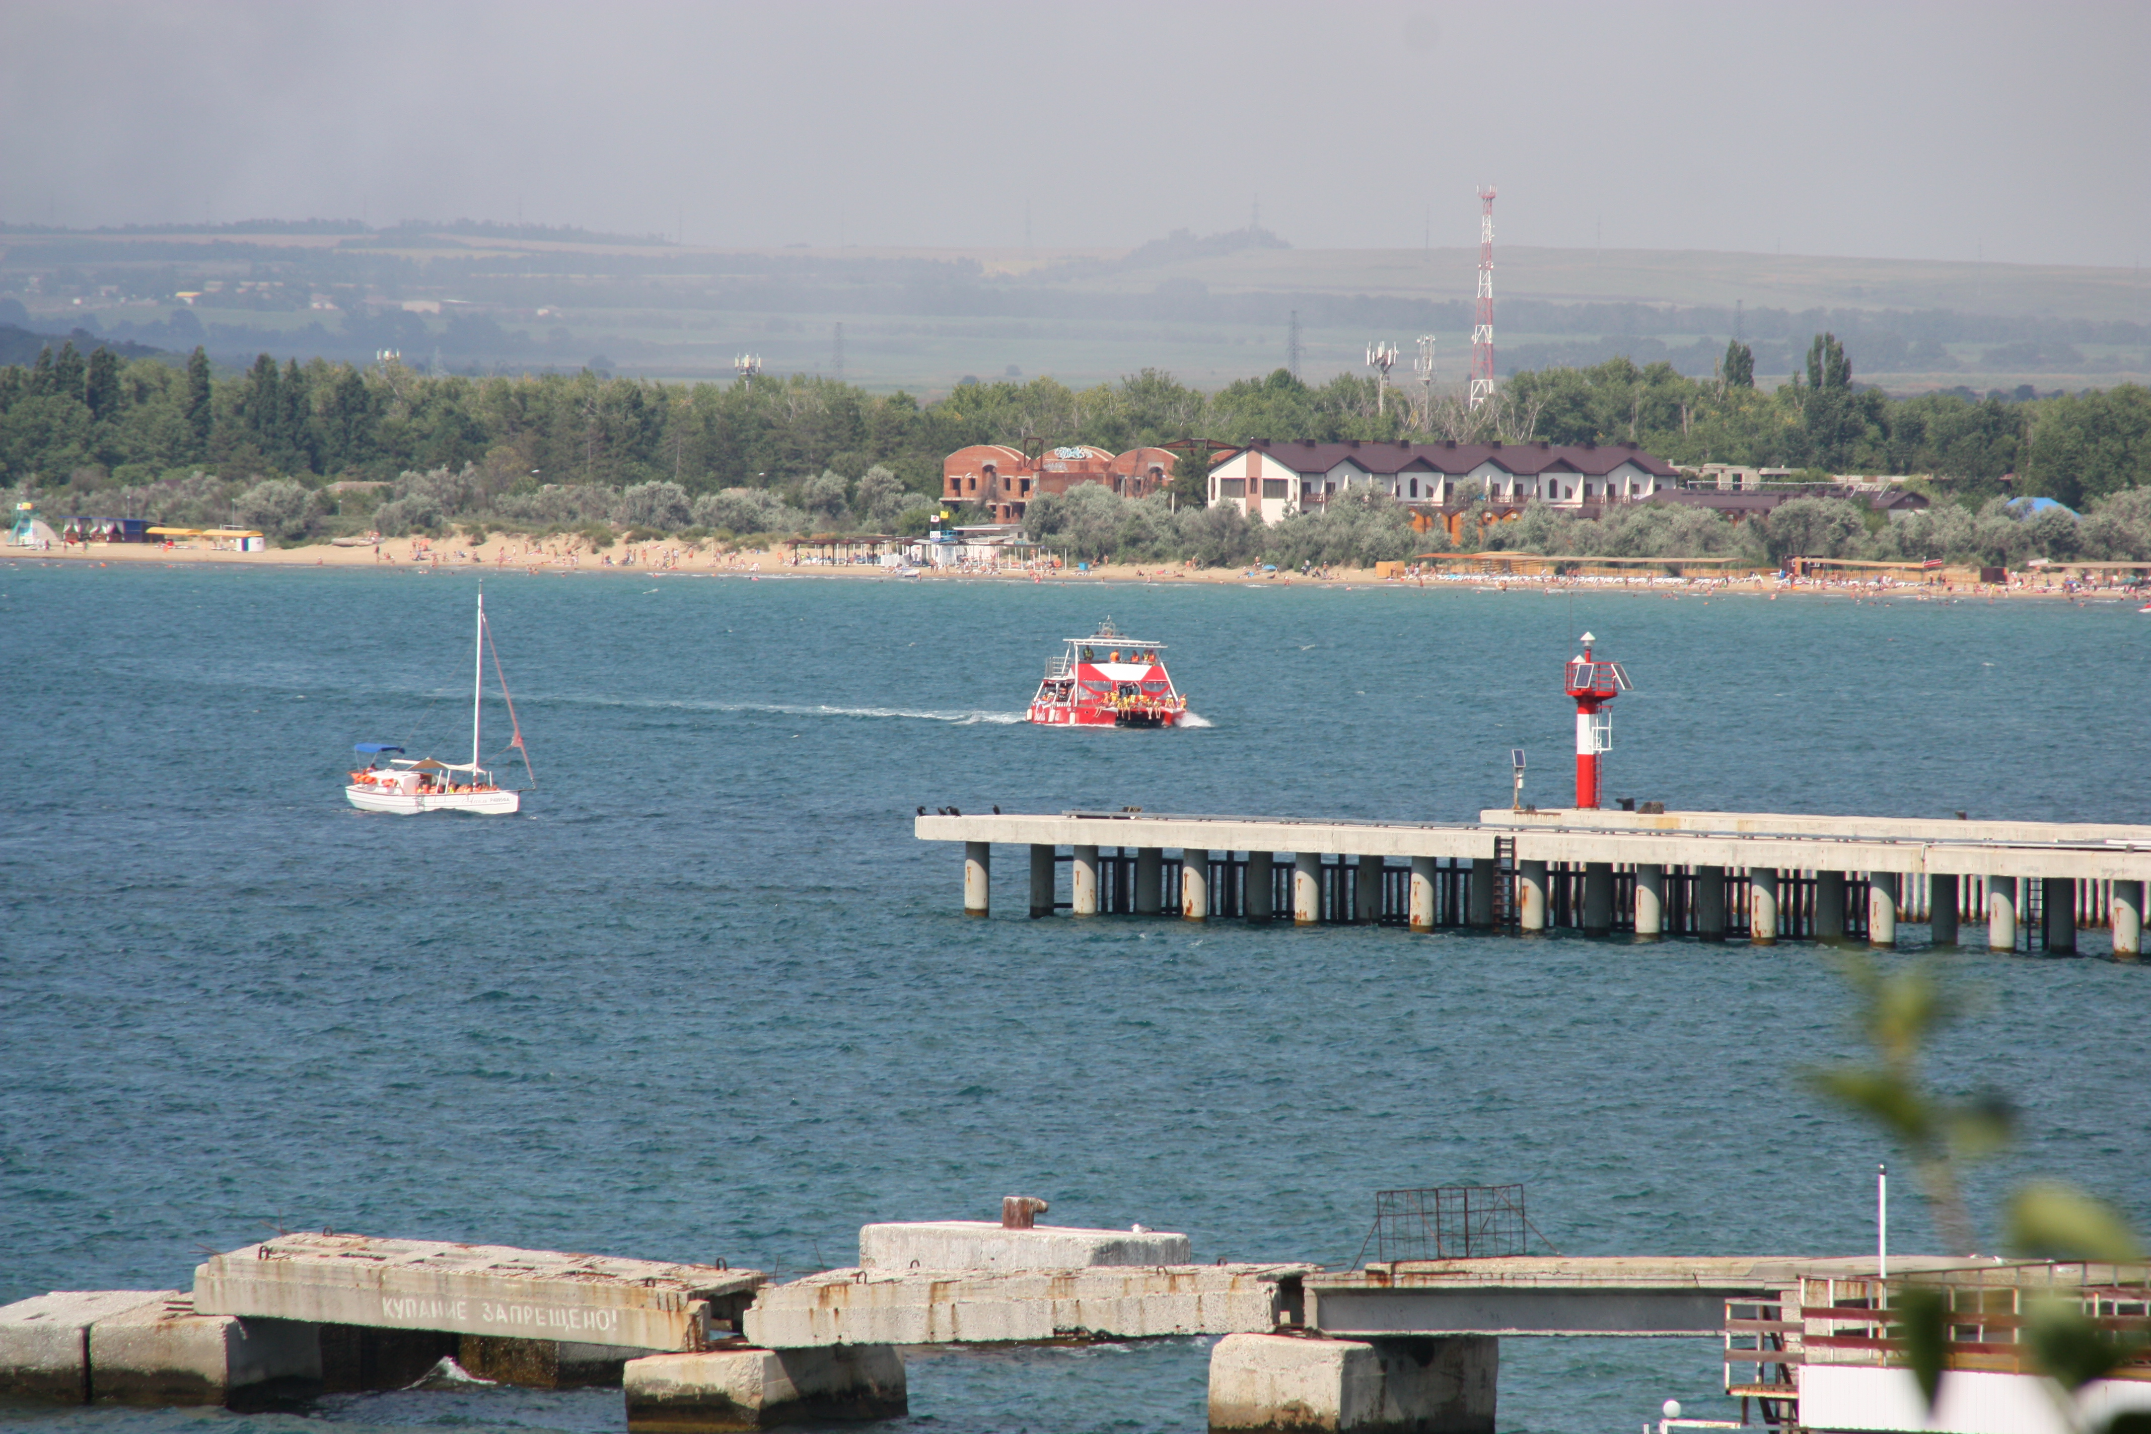
<instances>
[{"instance_id":1,"label":"rippled blue-green sea water around the boats and piers","mask_svg":"<svg viewBox=\"0 0 2151 1434\"><path fill-rule=\"evenodd\" d=\"M1239 585L495 576L518 817L366 815L353 742L469 757L475 576L0 565L0 1301L172 1288L275 1230L779 1277L884 1219L1185 1230L1349 1264L1392 1187L1521 1182L1566 1253L1858 1253L1893 1150L1803 1084L1858 1049L1811 944L992 920L918 806L1469 819L1572 793L1562 662L1637 690L1609 795L2142 821L2134 604ZM1168 643L1200 725L1020 720L1060 641ZM488 673L490 684L490 673ZM508 776L508 712L484 752ZM2151 1223L2151 972L1990 957L1945 1090L1972 1180ZM1919 946L1925 931L1906 931ZM2099 948L2102 933L2086 933ZM1912 959L1912 957L1901 957ZM1932 1249L1910 1180L1893 1249ZM925 1352L906 1423L1200 1430L1209 1342ZM1499 1428L1729 1413L1712 1339L1504 1339ZM338 1395L34 1430L617 1430L617 1391Z\"/></svg>"}]
</instances>

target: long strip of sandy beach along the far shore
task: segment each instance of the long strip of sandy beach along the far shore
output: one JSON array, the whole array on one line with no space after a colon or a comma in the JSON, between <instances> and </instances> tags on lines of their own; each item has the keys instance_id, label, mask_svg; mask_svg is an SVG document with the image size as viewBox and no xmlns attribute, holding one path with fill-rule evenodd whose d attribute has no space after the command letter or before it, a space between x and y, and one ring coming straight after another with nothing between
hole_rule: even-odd
<instances>
[{"instance_id":1,"label":"long strip of sandy beach along the far shore","mask_svg":"<svg viewBox=\"0 0 2151 1434\"><path fill-rule=\"evenodd\" d=\"M783 548L727 550L695 544L613 544L589 550L570 548L559 540L497 537L478 548L458 546L454 540L428 542L424 537L394 537L364 546L305 544L297 548L265 548L260 553L237 553L228 546L181 544L172 548L155 544L97 542L75 546L4 548L11 561L54 561L71 565L163 565L185 568L194 563L230 563L245 568L370 568L376 572L471 572L484 570L501 576L587 576L587 574L699 574L699 576L783 576L783 578L847 578L858 583L1237 583L1243 587L1415 587L1426 591L1635 591L1635 593L1813 593L1813 596L1876 596L1893 598L2127 598L2119 585L2097 580L2069 585L2063 570L2015 572L2007 585L1968 580L1972 574L1962 568L1942 570L1938 580L1906 583L1899 578L1781 578L1777 574L1751 576L1686 576L1665 574L1499 574L1499 572L1456 572L1456 570L1413 570L1402 576L1374 572L1372 568L1331 568L1314 574L1271 572L1248 568L1192 568L1181 563L1093 563L1088 568L927 568L893 570L875 563L828 563L815 559L794 561Z\"/></svg>"}]
</instances>

